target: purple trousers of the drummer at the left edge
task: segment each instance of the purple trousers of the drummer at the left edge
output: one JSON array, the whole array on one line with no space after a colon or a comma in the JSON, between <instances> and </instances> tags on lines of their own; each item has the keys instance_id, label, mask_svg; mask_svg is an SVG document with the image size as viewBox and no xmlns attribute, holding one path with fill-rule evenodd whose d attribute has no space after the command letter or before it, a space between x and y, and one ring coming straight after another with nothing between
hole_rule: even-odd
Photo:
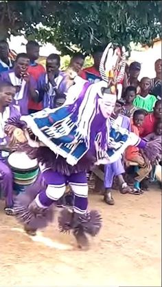
<instances>
[{"instance_id":1,"label":"purple trousers of the drummer at the left edge","mask_svg":"<svg viewBox=\"0 0 162 287\"><path fill-rule=\"evenodd\" d=\"M5 197L6 207L12 207L13 205L13 177L10 167L4 160L0 159L0 188Z\"/></svg>"}]
</instances>

